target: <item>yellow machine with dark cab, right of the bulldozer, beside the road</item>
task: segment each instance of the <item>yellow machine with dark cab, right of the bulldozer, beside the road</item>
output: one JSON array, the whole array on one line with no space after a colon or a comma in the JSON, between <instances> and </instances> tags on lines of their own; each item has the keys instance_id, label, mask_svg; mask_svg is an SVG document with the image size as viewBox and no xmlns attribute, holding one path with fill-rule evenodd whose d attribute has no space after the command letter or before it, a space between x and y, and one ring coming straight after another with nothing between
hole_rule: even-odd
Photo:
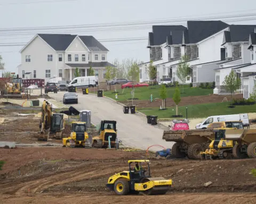
<instances>
[{"instance_id":1,"label":"yellow machine with dark cab, right of the bulldozer, beside the road","mask_svg":"<svg viewBox=\"0 0 256 204\"><path fill-rule=\"evenodd\" d=\"M116 148L116 121L101 121L99 127L99 135L92 138L93 148ZM110 140L110 142L109 142Z\"/></svg>"}]
</instances>

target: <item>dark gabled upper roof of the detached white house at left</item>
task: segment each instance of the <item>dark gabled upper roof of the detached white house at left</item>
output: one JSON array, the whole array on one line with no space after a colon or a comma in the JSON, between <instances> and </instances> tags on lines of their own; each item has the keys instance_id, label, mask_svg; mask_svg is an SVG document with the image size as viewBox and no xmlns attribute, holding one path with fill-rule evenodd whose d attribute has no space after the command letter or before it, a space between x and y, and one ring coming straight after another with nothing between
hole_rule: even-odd
<instances>
[{"instance_id":1,"label":"dark gabled upper roof of the detached white house at left","mask_svg":"<svg viewBox=\"0 0 256 204\"><path fill-rule=\"evenodd\" d=\"M77 35L70 34L38 34L47 44L57 51L64 51ZM93 36L78 36L90 51L109 51Z\"/></svg>"}]
</instances>

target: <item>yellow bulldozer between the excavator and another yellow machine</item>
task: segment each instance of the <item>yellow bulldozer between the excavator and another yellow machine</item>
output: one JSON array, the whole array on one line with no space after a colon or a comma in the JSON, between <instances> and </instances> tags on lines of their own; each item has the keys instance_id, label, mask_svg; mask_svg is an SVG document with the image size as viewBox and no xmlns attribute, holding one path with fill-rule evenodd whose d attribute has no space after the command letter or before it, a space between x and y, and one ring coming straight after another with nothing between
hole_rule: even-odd
<instances>
[{"instance_id":1,"label":"yellow bulldozer between the excavator and another yellow machine","mask_svg":"<svg viewBox=\"0 0 256 204\"><path fill-rule=\"evenodd\" d=\"M63 147L85 147L90 148L88 133L85 122L72 122L70 137L62 139Z\"/></svg>"}]
</instances>

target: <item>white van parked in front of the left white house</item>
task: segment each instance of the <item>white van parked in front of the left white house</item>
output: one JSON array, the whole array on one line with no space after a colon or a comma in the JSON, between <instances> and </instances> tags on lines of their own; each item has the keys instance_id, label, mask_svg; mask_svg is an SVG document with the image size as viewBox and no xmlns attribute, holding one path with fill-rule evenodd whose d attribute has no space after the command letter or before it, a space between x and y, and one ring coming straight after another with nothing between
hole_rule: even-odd
<instances>
[{"instance_id":1,"label":"white van parked in front of the left white house","mask_svg":"<svg viewBox=\"0 0 256 204\"><path fill-rule=\"evenodd\" d=\"M76 77L68 84L68 87L73 86L77 88L95 87L99 84L97 76Z\"/></svg>"}]
</instances>

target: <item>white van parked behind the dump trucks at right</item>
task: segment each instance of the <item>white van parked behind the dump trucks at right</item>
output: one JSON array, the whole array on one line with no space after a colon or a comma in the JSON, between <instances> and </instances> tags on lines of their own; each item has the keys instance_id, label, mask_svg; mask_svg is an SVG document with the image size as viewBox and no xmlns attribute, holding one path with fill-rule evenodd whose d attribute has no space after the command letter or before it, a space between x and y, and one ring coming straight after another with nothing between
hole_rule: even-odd
<instances>
[{"instance_id":1,"label":"white van parked behind the dump trucks at right","mask_svg":"<svg viewBox=\"0 0 256 204\"><path fill-rule=\"evenodd\" d=\"M210 123L225 121L242 121L243 125L249 125L249 117L247 113L234 115L215 115L207 117L202 123L196 125L196 129L206 129Z\"/></svg>"}]
</instances>

